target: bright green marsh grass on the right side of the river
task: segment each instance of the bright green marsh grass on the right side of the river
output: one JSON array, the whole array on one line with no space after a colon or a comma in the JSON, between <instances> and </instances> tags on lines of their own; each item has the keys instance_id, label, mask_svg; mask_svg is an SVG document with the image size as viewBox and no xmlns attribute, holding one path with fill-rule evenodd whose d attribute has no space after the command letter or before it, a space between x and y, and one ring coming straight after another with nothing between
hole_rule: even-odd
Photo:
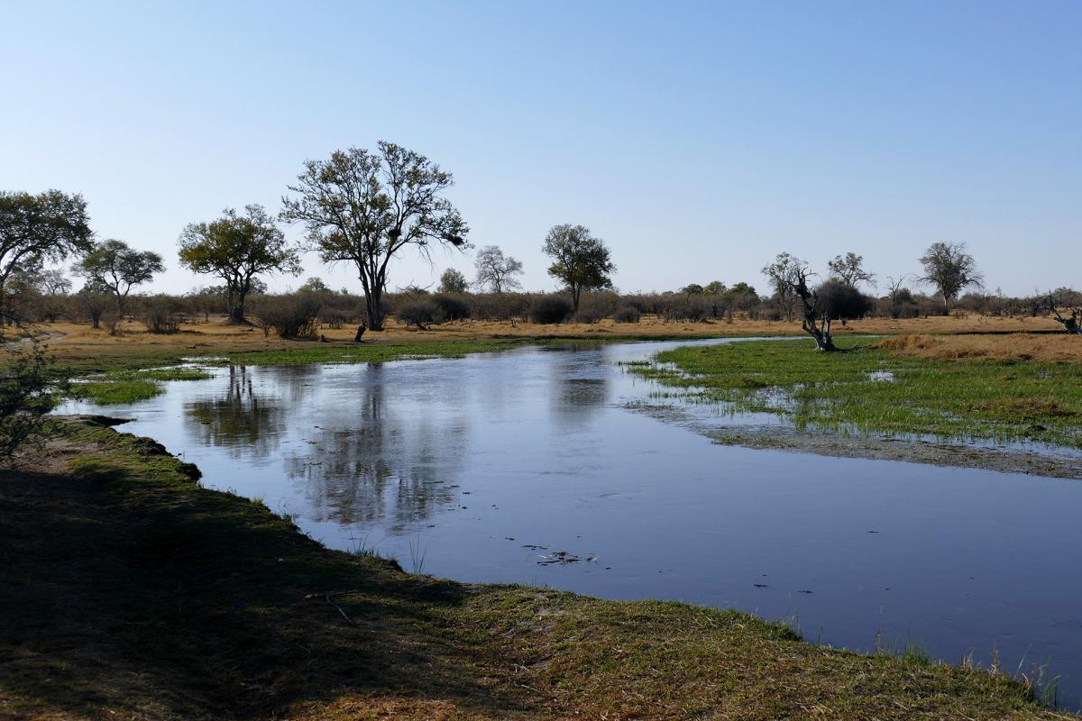
<instances>
[{"instance_id":1,"label":"bright green marsh grass on the right side of the river","mask_svg":"<svg viewBox=\"0 0 1082 721\"><path fill-rule=\"evenodd\" d=\"M631 370L694 401L776 413L799 427L1082 448L1076 364L928 360L858 344L842 341L848 351L835 353L799 341L684 347Z\"/></svg>"}]
</instances>

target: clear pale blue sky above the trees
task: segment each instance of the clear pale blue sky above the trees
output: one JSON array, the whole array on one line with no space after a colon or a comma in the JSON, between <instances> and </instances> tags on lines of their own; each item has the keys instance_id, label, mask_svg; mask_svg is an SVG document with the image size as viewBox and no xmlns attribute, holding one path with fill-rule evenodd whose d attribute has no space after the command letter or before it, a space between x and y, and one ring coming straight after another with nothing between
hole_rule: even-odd
<instances>
[{"instance_id":1,"label":"clear pale blue sky above the trees","mask_svg":"<svg viewBox=\"0 0 1082 721\"><path fill-rule=\"evenodd\" d=\"M454 173L476 245L552 288L557 223L621 290L747 280L788 250L881 277L965 241L990 290L1082 285L1082 2L17 2L0 187L82 192L177 268L192 221L277 211L380 138ZM300 236L299 228L289 230ZM405 258L392 286L469 257ZM314 256L308 275L359 283ZM274 288L301 281L279 279Z\"/></svg>"}]
</instances>

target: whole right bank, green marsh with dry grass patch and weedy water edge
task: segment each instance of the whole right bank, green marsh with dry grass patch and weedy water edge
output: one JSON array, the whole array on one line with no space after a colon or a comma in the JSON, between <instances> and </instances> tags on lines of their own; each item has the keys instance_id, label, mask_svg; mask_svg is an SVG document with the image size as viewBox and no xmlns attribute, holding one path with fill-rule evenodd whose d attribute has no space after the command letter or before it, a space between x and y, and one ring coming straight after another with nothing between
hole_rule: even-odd
<instances>
[{"instance_id":1,"label":"whole right bank, green marsh with dry grass patch and weedy water edge","mask_svg":"<svg viewBox=\"0 0 1082 721\"><path fill-rule=\"evenodd\" d=\"M1082 478L1082 344L1069 336L900 336L805 344L684 347L631 370L668 400L775 414L778 426L699 428L733 445ZM958 441L966 441L959 443Z\"/></svg>"}]
</instances>

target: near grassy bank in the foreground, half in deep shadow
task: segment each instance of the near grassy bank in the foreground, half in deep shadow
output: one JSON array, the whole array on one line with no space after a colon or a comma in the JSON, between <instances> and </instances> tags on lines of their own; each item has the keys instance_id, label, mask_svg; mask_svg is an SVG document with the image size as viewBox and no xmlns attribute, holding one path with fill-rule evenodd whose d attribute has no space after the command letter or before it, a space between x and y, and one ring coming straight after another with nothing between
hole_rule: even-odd
<instances>
[{"instance_id":1,"label":"near grassy bank in the foreground, half in deep shadow","mask_svg":"<svg viewBox=\"0 0 1082 721\"><path fill-rule=\"evenodd\" d=\"M88 424L0 475L0 717L1064 718L1001 676L331 551Z\"/></svg>"}]
</instances>

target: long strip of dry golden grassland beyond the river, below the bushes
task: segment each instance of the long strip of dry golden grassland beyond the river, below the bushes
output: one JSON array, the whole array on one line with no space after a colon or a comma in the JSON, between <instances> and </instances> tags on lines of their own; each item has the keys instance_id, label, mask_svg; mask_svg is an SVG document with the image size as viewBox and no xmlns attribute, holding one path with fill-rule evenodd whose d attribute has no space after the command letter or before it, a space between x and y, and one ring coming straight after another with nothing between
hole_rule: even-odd
<instances>
[{"instance_id":1,"label":"long strip of dry golden grassland beyond the river, below the bushes","mask_svg":"<svg viewBox=\"0 0 1082 721\"><path fill-rule=\"evenodd\" d=\"M703 323L667 323L644 317L638 323L560 323L539 325L520 322L457 321L433 325L428 331L388 322L387 330L365 334L354 344L356 329L321 328L319 341L286 341L251 325L234 325L211 317L183 323L177 333L156 335L138 322L120 326L118 335L104 329L68 322L36 326L47 338L58 361L75 373L107 372L170 365L185 358L228 358L246 363L322 362L335 360L388 360L395 353L436 355L473 352L471 348L499 349L509 345L553 342L664 341L734 336L802 335L800 324L786 321L724 319ZM868 319L839 328L846 335L910 334L1006 334L1056 333L1061 329L1047 318L987 318L981 316L914 318L908 320ZM390 348L397 348L393 350Z\"/></svg>"}]
</instances>

